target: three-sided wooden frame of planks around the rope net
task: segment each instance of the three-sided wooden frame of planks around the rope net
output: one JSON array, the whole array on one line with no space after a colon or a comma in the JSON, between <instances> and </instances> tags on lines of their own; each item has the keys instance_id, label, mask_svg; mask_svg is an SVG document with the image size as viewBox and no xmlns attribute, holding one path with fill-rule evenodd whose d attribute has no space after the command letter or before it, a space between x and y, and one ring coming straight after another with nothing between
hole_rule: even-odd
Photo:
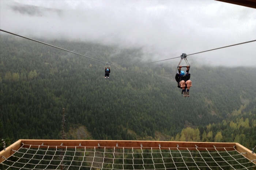
<instances>
[{"instance_id":1,"label":"three-sided wooden frame of planks around the rope net","mask_svg":"<svg viewBox=\"0 0 256 170\"><path fill-rule=\"evenodd\" d=\"M15 150L18 150L21 146L23 147L37 147L42 148L52 147L52 148L79 148L79 147L143 147L143 149L153 148L153 149L171 149L176 150L177 147L182 150L215 150L215 147L218 151L222 150L234 150L234 148L240 152L244 157L249 160L255 160L256 154L252 153L251 150L240 145L239 143L219 143L219 142L175 142L175 141L107 141L107 140L29 140L29 139L19 139L5 150L0 152L0 163L3 162L4 158L9 158L12 154L15 153ZM252 161L255 163L254 161Z\"/></svg>"}]
</instances>

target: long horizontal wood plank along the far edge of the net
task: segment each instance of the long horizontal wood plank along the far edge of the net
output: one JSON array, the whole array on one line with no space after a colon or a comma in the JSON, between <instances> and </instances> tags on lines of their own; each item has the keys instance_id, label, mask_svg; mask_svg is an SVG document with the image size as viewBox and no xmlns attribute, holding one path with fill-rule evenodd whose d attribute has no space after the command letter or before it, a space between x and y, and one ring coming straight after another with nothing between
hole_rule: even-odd
<instances>
[{"instance_id":1,"label":"long horizontal wood plank along the far edge of the net","mask_svg":"<svg viewBox=\"0 0 256 170\"><path fill-rule=\"evenodd\" d=\"M176 150L177 145L179 146L179 149L184 150L186 148L191 148L190 150L196 150L195 147L197 146L198 150L205 150L207 148L208 150L215 150L214 146L217 147L217 150L224 150L224 147L227 150L234 150L235 143L220 143L220 142L174 142L174 141L108 141L108 140L28 140L28 139L21 139L22 143L26 144L27 147L30 145L37 145L37 146L31 146L31 147L38 147L38 145L41 145L44 143L44 146L57 146L57 148L63 148L61 147L61 143L63 143L63 146L69 146L69 148L75 148L79 147L79 144L81 146L86 147L98 147L98 143L102 147L116 147L116 144L118 144L118 147L140 147L142 144L145 148L155 147L158 149L159 144L162 149L171 148L172 150ZM26 147L23 146L23 147ZM53 148L50 147L50 148ZM43 146L42 146L43 148Z\"/></svg>"}]
</instances>

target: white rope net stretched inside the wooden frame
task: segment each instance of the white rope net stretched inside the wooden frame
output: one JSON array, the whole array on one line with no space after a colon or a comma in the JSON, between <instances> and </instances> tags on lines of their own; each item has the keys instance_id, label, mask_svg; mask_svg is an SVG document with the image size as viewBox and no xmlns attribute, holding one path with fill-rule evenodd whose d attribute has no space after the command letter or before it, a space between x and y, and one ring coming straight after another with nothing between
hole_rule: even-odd
<instances>
[{"instance_id":1,"label":"white rope net stretched inside the wooden frame","mask_svg":"<svg viewBox=\"0 0 256 170\"><path fill-rule=\"evenodd\" d=\"M15 150L13 150L15 151ZM0 164L1 170L150 170L211 169L255 170L235 147L87 147L45 146L22 143L19 150Z\"/></svg>"}]
</instances>

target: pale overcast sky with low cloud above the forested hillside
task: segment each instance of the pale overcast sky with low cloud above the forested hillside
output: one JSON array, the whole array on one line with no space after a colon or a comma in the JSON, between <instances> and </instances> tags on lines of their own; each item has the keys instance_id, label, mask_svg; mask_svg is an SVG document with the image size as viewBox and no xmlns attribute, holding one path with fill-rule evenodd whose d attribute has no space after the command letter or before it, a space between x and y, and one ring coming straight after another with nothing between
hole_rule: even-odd
<instances>
[{"instance_id":1,"label":"pale overcast sky with low cloud above the forested hillside","mask_svg":"<svg viewBox=\"0 0 256 170\"><path fill-rule=\"evenodd\" d=\"M161 60L256 39L256 9L214 0L1 0L0 28L37 38L143 47L144 58ZM255 66L256 42L189 57L215 66Z\"/></svg>"}]
</instances>

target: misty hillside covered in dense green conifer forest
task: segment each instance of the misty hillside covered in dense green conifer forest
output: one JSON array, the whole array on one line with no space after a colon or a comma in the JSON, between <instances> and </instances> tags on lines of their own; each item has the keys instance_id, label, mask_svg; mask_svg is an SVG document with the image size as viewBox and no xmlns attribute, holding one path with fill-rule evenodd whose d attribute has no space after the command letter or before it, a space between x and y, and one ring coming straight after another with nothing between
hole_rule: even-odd
<instances>
[{"instance_id":1,"label":"misty hillside covered in dense green conifer forest","mask_svg":"<svg viewBox=\"0 0 256 170\"><path fill-rule=\"evenodd\" d=\"M255 143L256 68L192 65L191 97L184 98L176 68L138 64L140 49L48 43L113 62L110 79L102 63L1 35L0 136L11 142L60 139L65 108L69 139L189 141L182 131L191 130L195 141Z\"/></svg>"}]
</instances>

